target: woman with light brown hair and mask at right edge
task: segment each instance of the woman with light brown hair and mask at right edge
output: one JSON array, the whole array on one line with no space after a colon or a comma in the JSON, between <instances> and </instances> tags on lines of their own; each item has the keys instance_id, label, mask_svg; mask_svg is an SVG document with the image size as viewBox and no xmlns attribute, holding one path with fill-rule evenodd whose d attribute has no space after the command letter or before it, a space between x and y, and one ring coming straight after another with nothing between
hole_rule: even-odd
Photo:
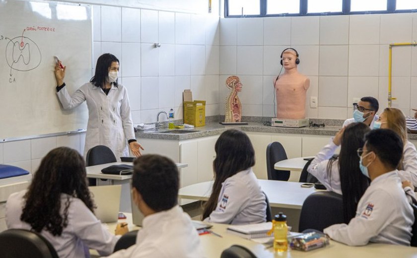
<instances>
[{"instance_id":1,"label":"woman with light brown hair and mask at right edge","mask_svg":"<svg viewBox=\"0 0 417 258\"><path fill-rule=\"evenodd\" d=\"M402 181L408 180L417 187L417 150L413 143L408 141L406 117L397 108L386 108L374 123L374 129L391 129L400 135L404 142L403 158L398 167L398 175Z\"/></svg>"}]
</instances>

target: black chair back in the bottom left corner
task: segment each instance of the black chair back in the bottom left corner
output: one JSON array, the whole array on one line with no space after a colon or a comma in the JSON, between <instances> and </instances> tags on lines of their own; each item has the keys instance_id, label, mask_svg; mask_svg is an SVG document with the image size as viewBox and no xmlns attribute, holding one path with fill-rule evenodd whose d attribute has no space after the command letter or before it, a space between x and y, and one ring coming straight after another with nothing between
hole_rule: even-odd
<instances>
[{"instance_id":1,"label":"black chair back in the bottom left corner","mask_svg":"<svg viewBox=\"0 0 417 258\"><path fill-rule=\"evenodd\" d=\"M0 254L1 258L59 258L41 234L25 229L8 229L0 233Z\"/></svg>"}]
</instances>

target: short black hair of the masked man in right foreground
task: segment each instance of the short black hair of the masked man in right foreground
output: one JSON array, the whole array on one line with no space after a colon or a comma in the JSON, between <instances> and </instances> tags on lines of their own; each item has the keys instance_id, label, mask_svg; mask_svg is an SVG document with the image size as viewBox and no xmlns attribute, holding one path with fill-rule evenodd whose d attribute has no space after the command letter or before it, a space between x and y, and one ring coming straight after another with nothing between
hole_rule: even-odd
<instances>
[{"instance_id":1,"label":"short black hair of the masked man in right foreground","mask_svg":"<svg viewBox=\"0 0 417 258\"><path fill-rule=\"evenodd\" d=\"M368 152L373 151L389 169L396 169L403 157L403 140L391 129L371 130L365 135Z\"/></svg>"}]
</instances>

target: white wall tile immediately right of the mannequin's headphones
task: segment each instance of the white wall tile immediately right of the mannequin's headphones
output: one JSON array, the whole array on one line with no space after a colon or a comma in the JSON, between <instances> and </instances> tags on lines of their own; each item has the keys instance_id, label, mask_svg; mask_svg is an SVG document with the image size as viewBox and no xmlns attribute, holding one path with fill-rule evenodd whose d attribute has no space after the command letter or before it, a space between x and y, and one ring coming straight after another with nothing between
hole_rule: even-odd
<instances>
[{"instance_id":1,"label":"white wall tile immediately right of the mannequin's headphones","mask_svg":"<svg viewBox=\"0 0 417 258\"><path fill-rule=\"evenodd\" d=\"M307 76L319 75L319 46L296 46L300 64L298 71Z\"/></svg>"}]
</instances>

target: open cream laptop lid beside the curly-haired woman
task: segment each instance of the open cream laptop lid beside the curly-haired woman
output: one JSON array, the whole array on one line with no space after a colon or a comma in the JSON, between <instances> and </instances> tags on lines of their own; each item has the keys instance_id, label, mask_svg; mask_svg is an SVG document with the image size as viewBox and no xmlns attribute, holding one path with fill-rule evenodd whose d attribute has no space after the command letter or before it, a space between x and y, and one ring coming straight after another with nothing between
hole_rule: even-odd
<instances>
[{"instance_id":1,"label":"open cream laptop lid beside the curly-haired woman","mask_svg":"<svg viewBox=\"0 0 417 258\"><path fill-rule=\"evenodd\" d=\"M116 222L119 215L122 185L88 187L97 208L96 217L102 222Z\"/></svg>"}]
</instances>

